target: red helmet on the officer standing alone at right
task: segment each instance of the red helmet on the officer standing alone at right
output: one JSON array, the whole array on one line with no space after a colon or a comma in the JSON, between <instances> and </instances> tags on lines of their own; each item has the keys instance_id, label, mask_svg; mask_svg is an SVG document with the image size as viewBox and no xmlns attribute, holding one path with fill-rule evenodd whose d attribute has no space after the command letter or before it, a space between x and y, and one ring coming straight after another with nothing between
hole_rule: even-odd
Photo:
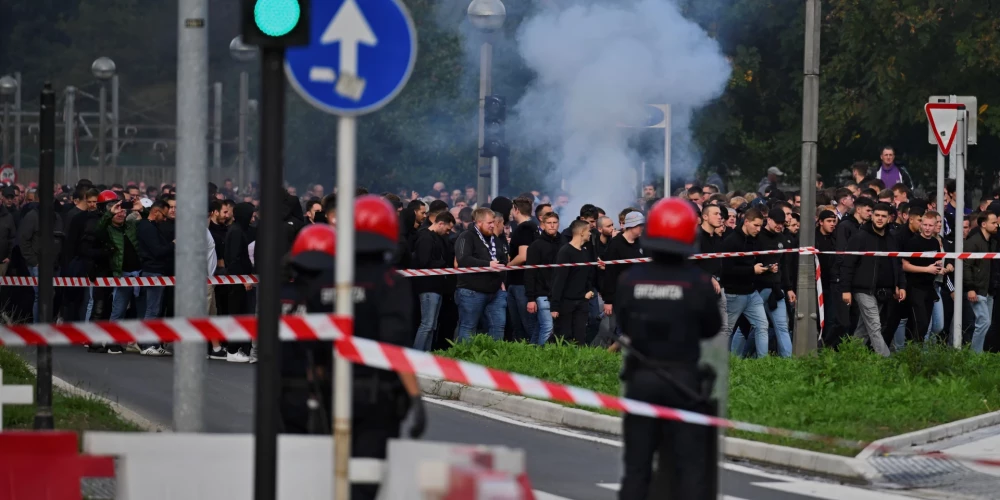
<instances>
[{"instance_id":1,"label":"red helmet on the officer standing alone at right","mask_svg":"<svg viewBox=\"0 0 1000 500\"><path fill-rule=\"evenodd\" d=\"M665 198L646 215L642 246L657 252L690 255L698 250L698 214L691 203Z\"/></svg>"}]
</instances>

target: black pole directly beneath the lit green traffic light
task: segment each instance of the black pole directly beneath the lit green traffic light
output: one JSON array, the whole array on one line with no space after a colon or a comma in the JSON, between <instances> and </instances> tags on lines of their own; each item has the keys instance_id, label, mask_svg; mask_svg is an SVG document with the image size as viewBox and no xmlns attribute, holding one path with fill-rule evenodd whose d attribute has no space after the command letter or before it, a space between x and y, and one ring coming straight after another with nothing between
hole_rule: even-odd
<instances>
[{"instance_id":1,"label":"black pole directly beneath the lit green traffic light","mask_svg":"<svg viewBox=\"0 0 1000 500\"><path fill-rule=\"evenodd\" d=\"M277 494L278 407L281 367L278 365L278 316L281 314L281 260L284 221L283 157L285 129L285 49L261 49L260 206L256 259L257 400L254 408L254 498L274 500Z\"/></svg>"}]
</instances>

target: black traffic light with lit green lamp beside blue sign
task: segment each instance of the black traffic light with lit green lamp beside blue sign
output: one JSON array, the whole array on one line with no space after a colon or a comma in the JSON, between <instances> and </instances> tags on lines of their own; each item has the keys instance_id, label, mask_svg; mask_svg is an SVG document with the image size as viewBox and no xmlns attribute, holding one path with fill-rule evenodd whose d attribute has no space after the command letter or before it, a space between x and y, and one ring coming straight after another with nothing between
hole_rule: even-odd
<instances>
[{"instance_id":1,"label":"black traffic light with lit green lamp beside blue sign","mask_svg":"<svg viewBox=\"0 0 1000 500\"><path fill-rule=\"evenodd\" d=\"M309 45L310 0L243 0L243 43L261 48Z\"/></svg>"}]
</instances>

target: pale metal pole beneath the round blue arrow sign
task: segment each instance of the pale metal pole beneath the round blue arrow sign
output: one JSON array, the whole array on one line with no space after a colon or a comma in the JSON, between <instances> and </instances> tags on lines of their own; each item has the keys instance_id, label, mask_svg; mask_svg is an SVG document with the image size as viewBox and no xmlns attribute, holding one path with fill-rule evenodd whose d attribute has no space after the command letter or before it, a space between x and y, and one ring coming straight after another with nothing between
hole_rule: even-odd
<instances>
[{"instance_id":1,"label":"pale metal pole beneath the round blue arrow sign","mask_svg":"<svg viewBox=\"0 0 1000 500\"><path fill-rule=\"evenodd\" d=\"M337 274L336 313L354 317L354 190L357 159L357 119L342 116L337 123ZM336 500L351 497L351 384L353 367L333 349L334 493Z\"/></svg>"}]
</instances>

